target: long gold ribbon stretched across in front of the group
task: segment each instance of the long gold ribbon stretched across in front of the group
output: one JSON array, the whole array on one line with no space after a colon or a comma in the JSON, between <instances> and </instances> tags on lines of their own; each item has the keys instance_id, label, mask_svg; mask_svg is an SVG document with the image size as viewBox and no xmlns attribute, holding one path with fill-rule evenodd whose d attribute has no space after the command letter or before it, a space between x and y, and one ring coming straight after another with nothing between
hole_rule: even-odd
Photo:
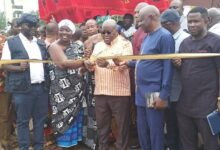
<instances>
[{"instance_id":1,"label":"long gold ribbon stretched across in front of the group","mask_svg":"<svg viewBox=\"0 0 220 150\"><path fill-rule=\"evenodd\" d=\"M152 60L152 59L195 59L195 58L212 58L220 57L220 53L179 53L179 54L153 54L153 55L126 55L126 56L101 56L91 57L91 61L98 58L102 59L118 59L121 61L129 60ZM51 60L35 60L35 59L13 59L13 60L0 60L0 65L18 64L22 62L28 63L52 63Z\"/></svg>"}]
</instances>

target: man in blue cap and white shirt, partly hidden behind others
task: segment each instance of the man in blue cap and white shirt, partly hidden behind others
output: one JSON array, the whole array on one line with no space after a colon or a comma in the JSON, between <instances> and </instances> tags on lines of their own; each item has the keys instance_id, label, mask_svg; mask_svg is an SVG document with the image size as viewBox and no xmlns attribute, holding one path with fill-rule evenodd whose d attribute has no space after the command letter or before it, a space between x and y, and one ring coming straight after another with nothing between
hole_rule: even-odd
<instances>
[{"instance_id":1,"label":"man in blue cap and white shirt, partly hidden behind others","mask_svg":"<svg viewBox=\"0 0 220 150\"><path fill-rule=\"evenodd\" d=\"M161 14L161 24L170 31L175 40L175 53L179 53L179 47L182 41L189 36L183 31L180 25L180 16L176 10L168 9ZM176 150L180 147L178 139L178 126L176 117L176 103L182 90L180 75L176 68L173 72L171 86L170 105L166 110L165 118L167 124L167 145L170 150Z\"/></svg>"}]
</instances>

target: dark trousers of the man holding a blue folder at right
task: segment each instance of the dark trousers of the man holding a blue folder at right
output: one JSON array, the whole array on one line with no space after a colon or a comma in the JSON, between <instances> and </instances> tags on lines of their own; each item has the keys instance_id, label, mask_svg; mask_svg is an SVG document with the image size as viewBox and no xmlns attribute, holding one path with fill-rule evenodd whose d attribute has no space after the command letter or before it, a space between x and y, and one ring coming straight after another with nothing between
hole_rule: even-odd
<instances>
[{"instance_id":1,"label":"dark trousers of the man holding a blue folder at right","mask_svg":"<svg viewBox=\"0 0 220 150\"><path fill-rule=\"evenodd\" d=\"M206 118L193 118L177 113L178 127L183 150L198 149L198 132L204 141L204 150L219 150L217 136L211 134Z\"/></svg>"}]
</instances>

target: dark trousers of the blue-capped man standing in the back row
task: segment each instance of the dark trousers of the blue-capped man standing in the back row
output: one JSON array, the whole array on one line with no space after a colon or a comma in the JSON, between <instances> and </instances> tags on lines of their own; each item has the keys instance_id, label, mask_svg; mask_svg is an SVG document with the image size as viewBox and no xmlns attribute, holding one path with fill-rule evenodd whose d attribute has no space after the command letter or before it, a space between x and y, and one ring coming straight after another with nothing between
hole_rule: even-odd
<instances>
[{"instance_id":1,"label":"dark trousers of the blue-capped man standing in the back row","mask_svg":"<svg viewBox=\"0 0 220 150\"><path fill-rule=\"evenodd\" d=\"M171 102L165 110L165 121L167 128L166 145L170 150L180 150L179 130L176 115L177 102Z\"/></svg>"}]
</instances>

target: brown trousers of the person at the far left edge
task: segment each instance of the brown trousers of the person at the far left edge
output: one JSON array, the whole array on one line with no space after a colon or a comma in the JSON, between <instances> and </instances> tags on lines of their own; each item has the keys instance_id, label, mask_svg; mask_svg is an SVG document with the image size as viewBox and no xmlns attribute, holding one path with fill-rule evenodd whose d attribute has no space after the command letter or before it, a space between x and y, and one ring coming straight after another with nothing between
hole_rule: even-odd
<instances>
[{"instance_id":1,"label":"brown trousers of the person at the far left edge","mask_svg":"<svg viewBox=\"0 0 220 150\"><path fill-rule=\"evenodd\" d=\"M0 93L0 143L9 144L9 138L12 132L11 99L8 93Z\"/></svg>"}]
</instances>

